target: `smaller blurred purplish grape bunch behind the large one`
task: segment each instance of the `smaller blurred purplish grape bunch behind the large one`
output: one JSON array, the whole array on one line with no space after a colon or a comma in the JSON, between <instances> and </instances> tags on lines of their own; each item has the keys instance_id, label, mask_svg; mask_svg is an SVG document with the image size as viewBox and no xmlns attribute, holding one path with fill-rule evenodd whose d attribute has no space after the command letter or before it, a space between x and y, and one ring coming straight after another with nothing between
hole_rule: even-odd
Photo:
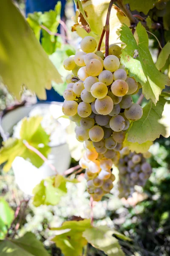
<instances>
[{"instance_id":1,"label":"smaller blurred purplish grape bunch behind the large one","mask_svg":"<svg viewBox=\"0 0 170 256\"><path fill-rule=\"evenodd\" d=\"M146 158L150 157L150 152L136 154L125 147L120 151L120 154L118 166L119 198L128 198L135 191L135 185L143 187L152 173L152 168L146 161Z\"/></svg>"}]
</instances>

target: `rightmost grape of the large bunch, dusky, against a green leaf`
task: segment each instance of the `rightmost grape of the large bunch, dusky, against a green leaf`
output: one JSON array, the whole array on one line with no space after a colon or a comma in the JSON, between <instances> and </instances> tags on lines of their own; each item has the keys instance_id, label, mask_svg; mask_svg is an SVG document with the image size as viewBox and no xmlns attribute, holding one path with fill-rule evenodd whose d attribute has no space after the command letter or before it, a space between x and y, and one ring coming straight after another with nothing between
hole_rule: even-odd
<instances>
[{"instance_id":1,"label":"rightmost grape of the large bunch, dusky, against a green leaf","mask_svg":"<svg viewBox=\"0 0 170 256\"><path fill-rule=\"evenodd\" d=\"M125 109L125 117L129 120L138 120L142 117L143 110L140 105L133 103L130 108Z\"/></svg>"}]
</instances>

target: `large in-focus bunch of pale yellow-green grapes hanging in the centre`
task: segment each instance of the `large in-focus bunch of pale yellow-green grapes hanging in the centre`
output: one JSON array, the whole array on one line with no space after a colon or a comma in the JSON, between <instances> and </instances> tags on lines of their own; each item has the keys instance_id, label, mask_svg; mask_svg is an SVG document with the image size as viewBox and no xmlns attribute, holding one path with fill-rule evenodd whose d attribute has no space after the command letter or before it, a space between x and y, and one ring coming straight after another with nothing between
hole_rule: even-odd
<instances>
[{"instance_id":1,"label":"large in-focus bunch of pale yellow-green grapes hanging in the centre","mask_svg":"<svg viewBox=\"0 0 170 256\"><path fill-rule=\"evenodd\" d=\"M77 140L84 142L85 154L79 164L86 169L88 191L95 201L110 192L114 175L112 164L119 162L119 151L130 120L142 117L142 108L133 103L132 94L140 85L127 75L120 64L121 47L109 46L109 55L96 50L96 40L87 36L81 51L64 61L67 89L62 111L76 122Z\"/></svg>"}]
</instances>

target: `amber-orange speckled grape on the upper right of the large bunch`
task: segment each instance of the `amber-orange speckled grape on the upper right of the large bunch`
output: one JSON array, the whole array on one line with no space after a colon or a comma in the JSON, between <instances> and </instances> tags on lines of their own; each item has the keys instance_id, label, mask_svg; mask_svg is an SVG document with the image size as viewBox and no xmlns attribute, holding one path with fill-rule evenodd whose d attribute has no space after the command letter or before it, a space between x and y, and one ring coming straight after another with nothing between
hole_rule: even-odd
<instances>
[{"instance_id":1,"label":"amber-orange speckled grape on the upper right of the large bunch","mask_svg":"<svg viewBox=\"0 0 170 256\"><path fill-rule=\"evenodd\" d=\"M116 80L111 86L111 91L114 95L121 97L124 96L128 91L128 84L123 80Z\"/></svg>"}]
</instances>

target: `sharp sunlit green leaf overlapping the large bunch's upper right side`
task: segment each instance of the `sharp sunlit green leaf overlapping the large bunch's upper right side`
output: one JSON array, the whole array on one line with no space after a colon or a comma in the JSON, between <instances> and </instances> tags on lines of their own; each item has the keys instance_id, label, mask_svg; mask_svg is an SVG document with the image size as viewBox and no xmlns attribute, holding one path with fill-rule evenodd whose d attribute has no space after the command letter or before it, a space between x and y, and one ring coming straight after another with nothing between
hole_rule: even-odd
<instances>
[{"instance_id":1,"label":"sharp sunlit green leaf overlapping the large bunch's upper right side","mask_svg":"<svg viewBox=\"0 0 170 256\"><path fill-rule=\"evenodd\" d=\"M170 80L156 69L148 48L147 32L140 22L136 31L139 37L138 44L128 26L122 26L120 39L127 46L122 49L121 63L129 70L129 76L133 76L137 82L142 84L145 98L152 99L153 103L156 104L161 90L164 89L165 85L170 85ZM135 51L138 52L139 56L133 58Z\"/></svg>"}]
</instances>

